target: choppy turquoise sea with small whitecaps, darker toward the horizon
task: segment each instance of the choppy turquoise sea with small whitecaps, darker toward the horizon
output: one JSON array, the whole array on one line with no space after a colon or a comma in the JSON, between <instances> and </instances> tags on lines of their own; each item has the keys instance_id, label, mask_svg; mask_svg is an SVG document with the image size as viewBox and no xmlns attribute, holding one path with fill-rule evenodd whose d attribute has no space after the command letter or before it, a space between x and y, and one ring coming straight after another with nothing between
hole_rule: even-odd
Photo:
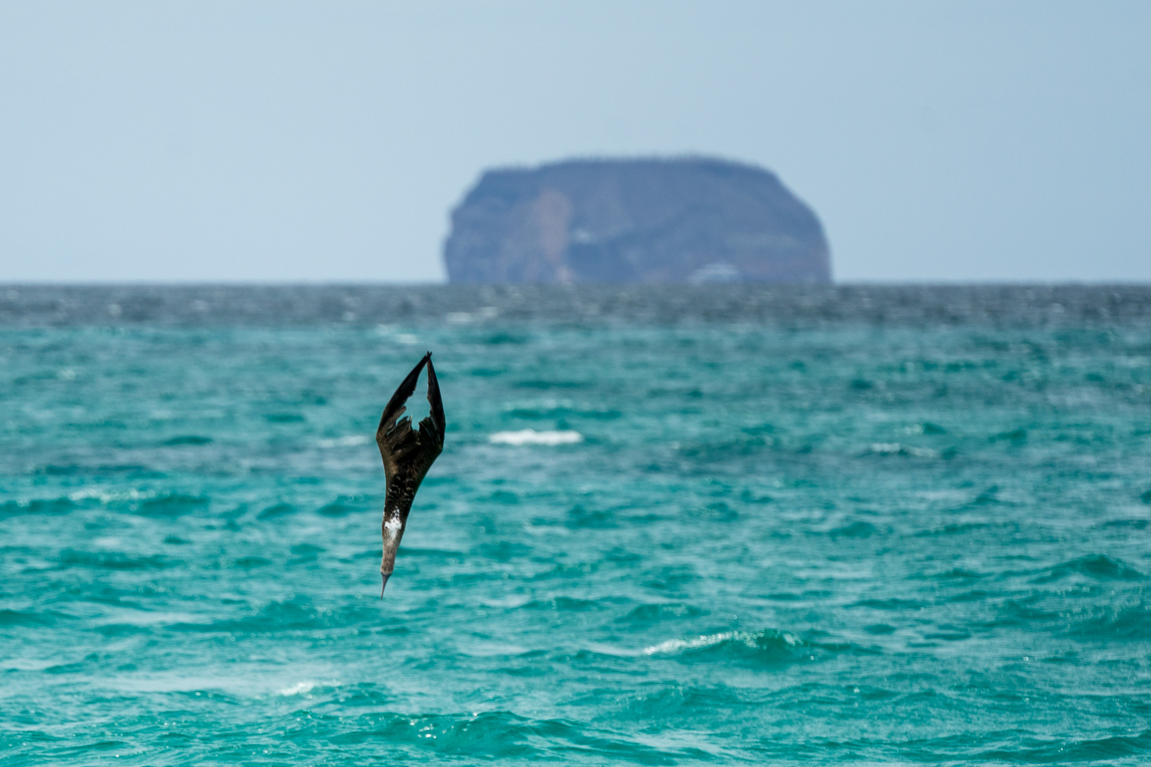
<instances>
[{"instance_id":1,"label":"choppy turquoise sea with small whitecaps, darker toward the horizon","mask_svg":"<svg viewBox=\"0 0 1151 767\"><path fill-rule=\"evenodd\" d=\"M1151 761L1148 289L13 287L0 413L6 766Z\"/></svg>"}]
</instances>

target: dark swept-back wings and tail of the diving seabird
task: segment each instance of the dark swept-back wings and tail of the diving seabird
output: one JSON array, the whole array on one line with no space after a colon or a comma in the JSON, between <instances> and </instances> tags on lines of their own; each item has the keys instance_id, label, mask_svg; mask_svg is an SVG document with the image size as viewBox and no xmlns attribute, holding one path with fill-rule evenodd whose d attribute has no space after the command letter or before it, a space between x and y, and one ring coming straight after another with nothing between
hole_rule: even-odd
<instances>
[{"instance_id":1,"label":"dark swept-back wings and tail of the diving seabird","mask_svg":"<svg viewBox=\"0 0 1151 767\"><path fill-rule=\"evenodd\" d=\"M425 365L428 368L430 412L426 419L420 421L419 429L416 430L412 429L411 417L404 416L407 411L405 404L414 393L420 370L424 369ZM432 367L432 352L428 352L419 361L419 365L412 368L404 382L399 384L396 393L388 400L388 405L383 408L383 416L380 419L380 427L375 430L375 444L380 446L383 471L389 486L391 486L394 477L403 476L414 485L411 488L414 494L424 475L443 451L445 428L443 401L440 399L440 383L435 378L435 368Z\"/></svg>"}]
</instances>

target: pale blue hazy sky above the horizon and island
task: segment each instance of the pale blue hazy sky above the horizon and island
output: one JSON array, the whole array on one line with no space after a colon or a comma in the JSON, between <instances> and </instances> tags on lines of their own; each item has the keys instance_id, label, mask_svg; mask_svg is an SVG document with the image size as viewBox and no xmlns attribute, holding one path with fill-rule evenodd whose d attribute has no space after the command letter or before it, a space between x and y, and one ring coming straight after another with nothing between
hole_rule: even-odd
<instances>
[{"instance_id":1,"label":"pale blue hazy sky above the horizon and island","mask_svg":"<svg viewBox=\"0 0 1151 767\"><path fill-rule=\"evenodd\" d=\"M0 5L0 282L436 282L482 169L686 153L837 279L1151 281L1151 2Z\"/></svg>"}]
</instances>

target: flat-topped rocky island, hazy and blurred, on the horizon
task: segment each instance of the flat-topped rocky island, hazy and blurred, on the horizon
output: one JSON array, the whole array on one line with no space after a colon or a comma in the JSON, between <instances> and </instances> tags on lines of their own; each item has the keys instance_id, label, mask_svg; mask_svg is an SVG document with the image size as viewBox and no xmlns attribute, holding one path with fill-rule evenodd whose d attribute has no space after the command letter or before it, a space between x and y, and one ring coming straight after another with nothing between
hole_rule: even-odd
<instances>
[{"instance_id":1,"label":"flat-topped rocky island, hazy and blurred, on the horizon","mask_svg":"<svg viewBox=\"0 0 1151 767\"><path fill-rule=\"evenodd\" d=\"M708 159L489 170L452 210L458 283L830 283L823 227L771 172Z\"/></svg>"}]
</instances>

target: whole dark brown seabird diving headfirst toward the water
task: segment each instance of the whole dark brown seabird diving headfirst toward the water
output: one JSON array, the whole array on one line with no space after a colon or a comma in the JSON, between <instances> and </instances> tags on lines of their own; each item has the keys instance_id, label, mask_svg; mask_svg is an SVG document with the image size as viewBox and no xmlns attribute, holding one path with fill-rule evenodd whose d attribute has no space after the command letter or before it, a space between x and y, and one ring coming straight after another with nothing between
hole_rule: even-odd
<instances>
[{"instance_id":1,"label":"whole dark brown seabird diving headfirst toward the water","mask_svg":"<svg viewBox=\"0 0 1151 767\"><path fill-rule=\"evenodd\" d=\"M428 367L428 404L432 412L420 421L417 431L412 429L411 416L401 416L407 409L404 404L416 391L416 383L425 365ZM383 524L380 528L383 536L383 560L380 562L383 585L380 586L380 599L383 599L383 590L396 566L396 551L399 549L399 539L404 537L404 524L407 523L407 513L412 511L416 491L443 450L444 427L440 384L435 379L435 368L432 367L432 352L428 352L388 400L380 419L380 428L375 430L375 444L380 446L383 474L388 481L383 499Z\"/></svg>"}]
</instances>

